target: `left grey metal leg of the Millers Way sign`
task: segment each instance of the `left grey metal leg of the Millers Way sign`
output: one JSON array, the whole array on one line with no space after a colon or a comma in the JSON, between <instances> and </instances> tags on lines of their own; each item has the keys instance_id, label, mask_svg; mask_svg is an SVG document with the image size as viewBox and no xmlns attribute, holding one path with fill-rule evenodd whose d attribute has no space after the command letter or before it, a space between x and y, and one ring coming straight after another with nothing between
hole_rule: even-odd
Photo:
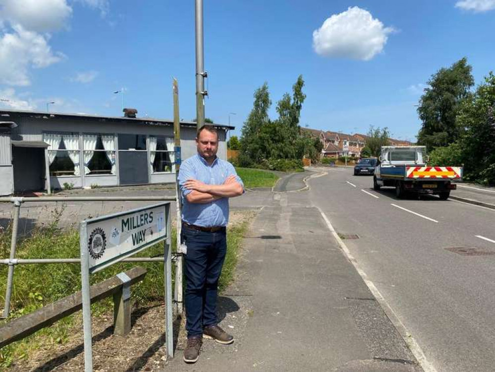
<instances>
[{"instance_id":1,"label":"left grey metal leg of the Millers Way sign","mask_svg":"<svg viewBox=\"0 0 495 372\"><path fill-rule=\"evenodd\" d=\"M91 331L91 296L89 284L89 262L86 242L86 222L79 228L79 245L81 248L81 295L83 306L84 329L84 371L93 372L93 345Z\"/></svg>"}]
</instances>

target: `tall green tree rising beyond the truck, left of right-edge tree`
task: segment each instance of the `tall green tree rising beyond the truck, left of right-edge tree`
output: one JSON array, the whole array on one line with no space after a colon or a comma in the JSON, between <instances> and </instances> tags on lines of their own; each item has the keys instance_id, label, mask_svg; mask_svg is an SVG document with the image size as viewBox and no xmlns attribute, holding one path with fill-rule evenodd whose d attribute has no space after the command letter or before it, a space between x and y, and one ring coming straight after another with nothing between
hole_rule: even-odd
<instances>
[{"instance_id":1,"label":"tall green tree rising beyond the truck, left of right-edge tree","mask_svg":"<svg viewBox=\"0 0 495 372\"><path fill-rule=\"evenodd\" d=\"M467 59L463 58L432 75L418 106L422 122L418 133L419 144L433 149L459 138L455 118L460 103L471 94L470 89L474 85L471 70Z\"/></svg>"}]
</instances>

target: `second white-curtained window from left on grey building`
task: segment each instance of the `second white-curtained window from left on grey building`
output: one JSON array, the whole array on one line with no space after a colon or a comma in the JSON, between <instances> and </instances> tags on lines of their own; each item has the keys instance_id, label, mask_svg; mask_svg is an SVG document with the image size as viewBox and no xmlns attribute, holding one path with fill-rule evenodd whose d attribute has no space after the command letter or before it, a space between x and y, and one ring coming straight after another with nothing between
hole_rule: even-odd
<instances>
[{"instance_id":1,"label":"second white-curtained window from left on grey building","mask_svg":"<svg viewBox=\"0 0 495 372\"><path fill-rule=\"evenodd\" d=\"M115 174L115 138L113 134L84 134L84 174Z\"/></svg>"}]
</instances>

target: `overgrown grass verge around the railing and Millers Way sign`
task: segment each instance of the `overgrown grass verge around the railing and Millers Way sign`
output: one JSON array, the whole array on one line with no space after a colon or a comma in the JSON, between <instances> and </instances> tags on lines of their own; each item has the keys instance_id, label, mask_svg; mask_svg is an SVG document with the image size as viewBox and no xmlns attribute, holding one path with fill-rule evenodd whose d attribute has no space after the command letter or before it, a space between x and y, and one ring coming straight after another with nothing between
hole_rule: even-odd
<instances>
[{"instance_id":1,"label":"overgrown grass verge around the railing and Millers Way sign","mask_svg":"<svg viewBox=\"0 0 495 372\"><path fill-rule=\"evenodd\" d=\"M249 221L247 214L227 229L227 255L220 277L220 291L232 282L237 264L239 250ZM33 231L29 238L18 243L17 258L73 258L79 256L79 232L60 231L56 224ZM8 257L10 250L10 230L0 233L0 257ZM175 250L175 229L172 231L172 250ZM158 256L163 254L163 244L148 248L136 256ZM143 282L132 286L133 303L145 305L160 301L164 297L164 270L158 263L117 263L91 276L91 284L101 282L111 276L128 270L136 265L148 270ZM172 265L173 269L174 265ZM6 278L7 266L0 266L0 277ZM175 277L172 271L172 280ZM6 280L0 281L0 297L4 302ZM15 268L14 287L11 300L13 318L68 296L81 289L80 264L31 264L18 265ZM92 305L93 316L110 313L112 300L108 298ZM17 360L27 358L37 349L51 349L64 344L72 334L71 330L81 326L81 314L65 317L53 326L43 328L35 334L5 346L0 350L0 370L6 369Z\"/></svg>"}]
</instances>

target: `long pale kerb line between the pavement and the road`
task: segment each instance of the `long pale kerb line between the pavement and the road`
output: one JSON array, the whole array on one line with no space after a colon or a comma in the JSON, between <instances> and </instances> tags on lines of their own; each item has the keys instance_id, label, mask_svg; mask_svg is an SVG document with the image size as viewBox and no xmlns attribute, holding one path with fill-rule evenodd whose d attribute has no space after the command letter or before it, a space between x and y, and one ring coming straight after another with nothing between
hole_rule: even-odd
<instances>
[{"instance_id":1,"label":"long pale kerb line between the pavement and the road","mask_svg":"<svg viewBox=\"0 0 495 372\"><path fill-rule=\"evenodd\" d=\"M361 266L359 266L359 263L356 261L354 256L351 254L349 251L349 248L345 245L345 243L340 239L338 236L337 232L333 228L333 226L330 223L330 220L328 217L323 213L320 207L316 207L320 211L320 213L323 216L323 219L325 220L327 227L329 228L331 234L337 241L338 245L340 248L342 248L342 251L346 255L347 259L352 263L358 274L363 278L363 281L365 282L366 286L369 288L373 296L377 299L377 302L380 304L382 309L385 311L385 314L388 316L392 324L395 326L395 329L400 333L402 339L404 342L407 344L409 347L409 350L413 353L414 357L418 361L419 365L423 369L424 372L437 372L435 367L428 362L426 359L425 353L421 349L421 346L419 346L418 342L416 339L413 337L413 335L407 330L406 326L402 323L402 321L399 319L395 311L388 305L386 302L385 298L382 296L378 288L375 286L375 284L368 278L368 275L361 269Z\"/></svg>"}]
</instances>

